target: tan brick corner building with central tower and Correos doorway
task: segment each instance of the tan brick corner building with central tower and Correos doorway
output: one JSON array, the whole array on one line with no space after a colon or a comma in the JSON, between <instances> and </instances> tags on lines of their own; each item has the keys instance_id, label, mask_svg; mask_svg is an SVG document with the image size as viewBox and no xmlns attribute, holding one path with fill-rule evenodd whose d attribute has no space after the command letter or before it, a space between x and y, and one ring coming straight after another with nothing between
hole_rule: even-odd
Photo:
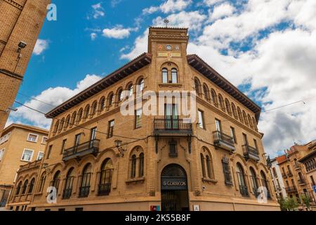
<instances>
[{"instance_id":1,"label":"tan brick corner building with central tower and Correos doorway","mask_svg":"<svg viewBox=\"0 0 316 225\"><path fill-rule=\"evenodd\" d=\"M279 210L257 123L261 108L196 55L187 29L150 27L148 52L47 113L52 118L25 210ZM164 116L123 116L121 91L197 91L198 122L176 103ZM145 103L146 101L143 101ZM46 189L58 189L48 204ZM258 203L258 187L268 202Z\"/></svg>"}]
</instances>

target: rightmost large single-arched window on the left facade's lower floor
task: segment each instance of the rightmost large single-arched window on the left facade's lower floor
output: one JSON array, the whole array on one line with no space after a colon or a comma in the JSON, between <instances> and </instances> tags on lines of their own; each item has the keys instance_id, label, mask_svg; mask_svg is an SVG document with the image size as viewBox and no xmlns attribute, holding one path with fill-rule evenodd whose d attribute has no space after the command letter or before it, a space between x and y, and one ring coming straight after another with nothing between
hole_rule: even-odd
<instances>
[{"instance_id":1,"label":"rightmost large single-arched window on the left facade's lower floor","mask_svg":"<svg viewBox=\"0 0 316 225\"><path fill-rule=\"evenodd\" d=\"M111 191L113 163L110 158L103 161L100 171L98 195L109 195Z\"/></svg>"}]
</instances>

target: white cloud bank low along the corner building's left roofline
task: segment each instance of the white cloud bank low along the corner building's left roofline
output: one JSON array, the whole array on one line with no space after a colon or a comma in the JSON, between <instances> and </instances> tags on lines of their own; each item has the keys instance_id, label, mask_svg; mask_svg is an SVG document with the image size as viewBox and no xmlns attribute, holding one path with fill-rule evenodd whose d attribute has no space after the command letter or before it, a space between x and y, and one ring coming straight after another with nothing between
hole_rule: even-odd
<instances>
[{"instance_id":1,"label":"white cloud bank low along the corner building's left roofline","mask_svg":"<svg viewBox=\"0 0 316 225\"><path fill-rule=\"evenodd\" d=\"M100 79L101 77L97 75L86 75L84 79L77 83L77 86L74 89L62 86L51 87L49 89L46 89L45 91L42 91L41 94L39 94L38 96L34 96L34 98L40 101L44 101L45 103L48 103L50 105L57 106L67 101L72 96L78 94L80 91L88 88L88 86L91 86L92 84L98 82L98 80ZM46 105L36 100L30 100L25 102L24 104L43 113L48 113L48 111L53 108L53 106ZM21 123L21 121L23 123L32 124L34 126L43 127L45 129L49 129L51 125L51 120L46 119L44 115L42 115L41 113L37 113L34 110L30 110L24 106L19 106L18 111L11 113L6 125L9 125L13 122Z\"/></svg>"}]
</instances>

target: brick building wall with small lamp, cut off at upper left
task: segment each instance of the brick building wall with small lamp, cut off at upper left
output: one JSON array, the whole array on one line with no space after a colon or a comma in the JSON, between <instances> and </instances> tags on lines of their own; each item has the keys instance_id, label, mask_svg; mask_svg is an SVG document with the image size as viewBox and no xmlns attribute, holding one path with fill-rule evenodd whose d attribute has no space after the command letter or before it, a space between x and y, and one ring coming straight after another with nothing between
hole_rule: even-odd
<instances>
[{"instance_id":1,"label":"brick building wall with small lamp, cut off at upper left","mask_svg":"<svg viewBox=\"0 0 316 225\"><path fill-rule=\"evenodd\" d=\"M0 0L0 135L51 0ZM20 48L20 50L19 50Z\"/></svg>"}]
</instances>

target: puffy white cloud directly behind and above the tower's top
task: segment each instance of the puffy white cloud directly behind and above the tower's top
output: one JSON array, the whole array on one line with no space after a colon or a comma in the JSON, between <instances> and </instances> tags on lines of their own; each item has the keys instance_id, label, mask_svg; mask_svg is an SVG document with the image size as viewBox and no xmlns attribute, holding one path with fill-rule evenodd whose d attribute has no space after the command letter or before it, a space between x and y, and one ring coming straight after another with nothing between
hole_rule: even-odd
<instances>
[{"instance_id":1,"label":"puffy white cloud directly behind and above the tower's top","mask_svg":"<svg viewBox=\"0 0 316 225\"><path fill-rule=\"evenodd\" d=\"M169 26L176 27L190 27L192 31L201 30L203 21L206 19L206 15L199 13L198 11L192 12L180 12L171 14L167 17L169 20ZM164 18L157 17L152 21L154 26L164 26Z\"/></svg>"}]
</instances>

